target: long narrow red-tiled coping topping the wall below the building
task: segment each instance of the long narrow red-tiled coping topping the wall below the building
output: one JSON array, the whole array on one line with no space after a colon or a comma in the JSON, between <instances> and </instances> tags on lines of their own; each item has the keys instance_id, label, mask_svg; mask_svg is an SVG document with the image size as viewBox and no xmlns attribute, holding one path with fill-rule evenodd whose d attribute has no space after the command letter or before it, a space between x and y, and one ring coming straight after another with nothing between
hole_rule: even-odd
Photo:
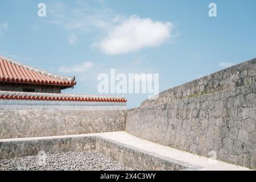
<instances>
[{"instance_id":1,"label":"long narrow red-tiled coping topping the wall below the building","mask_svg":"<svg viewBox=\"0 0 256 182\"><path fill-rule=\"evenodd\" d=\"M0 91L0 100L127 102L123 96Z\"/></svg>"}]
</instances>

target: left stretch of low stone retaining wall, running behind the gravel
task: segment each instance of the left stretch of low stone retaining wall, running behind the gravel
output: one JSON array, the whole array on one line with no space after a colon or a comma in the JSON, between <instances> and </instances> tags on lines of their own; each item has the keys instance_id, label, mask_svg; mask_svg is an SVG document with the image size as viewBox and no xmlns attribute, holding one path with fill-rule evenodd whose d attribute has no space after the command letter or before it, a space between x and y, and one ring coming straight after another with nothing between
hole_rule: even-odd
<instances>
[{"instance_id":1,"label":"left stretch of low stone retaining wall, running behind the gravel","mask_svg":"<svg viewBox=\"0 0 256 182\"><path fill-rule=\"evenodd\" d=\"M50 154L55 152L95 150L96 137L32 138L1 142L0 159L38 155L40 151Z\"/></svg>"}]
</instances>

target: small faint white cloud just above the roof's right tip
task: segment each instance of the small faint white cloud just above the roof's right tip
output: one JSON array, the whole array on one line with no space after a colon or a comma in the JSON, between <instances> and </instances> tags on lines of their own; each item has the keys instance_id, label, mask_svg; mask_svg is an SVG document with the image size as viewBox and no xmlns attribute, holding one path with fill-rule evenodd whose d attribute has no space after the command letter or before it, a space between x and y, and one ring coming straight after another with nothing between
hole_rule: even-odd
<instances>
[{"instance_id":1,"label":"small faint white cloud just above the roof's right tip","mask_svg":"<svg viewBox=\"0 0 256 182\"><path fill-rule=\"evenodd\" d=\"M88 62L84 62L82 64L76 64L73 65L72 67L60 67L59 68L59 72L62 73L80 73L80 72L84 72L89 68L92 68L93 64L88 61Z\"/></svg>"}]
</instances>

